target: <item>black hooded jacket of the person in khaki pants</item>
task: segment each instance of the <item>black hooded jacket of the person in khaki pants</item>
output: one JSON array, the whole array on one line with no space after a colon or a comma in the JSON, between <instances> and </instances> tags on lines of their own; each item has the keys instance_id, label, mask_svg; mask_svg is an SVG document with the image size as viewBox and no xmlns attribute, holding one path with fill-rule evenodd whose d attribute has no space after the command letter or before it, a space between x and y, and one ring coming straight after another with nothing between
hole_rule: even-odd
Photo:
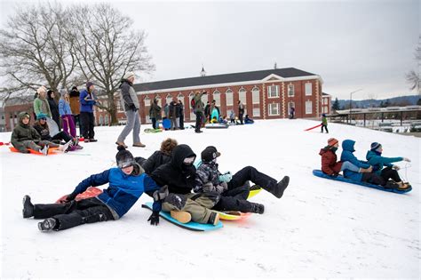
<instances>
[{"instance_id":1,"label":"black hooded jacket of the person in khaki pants","mask_svg":"<svg viewBox=\"0 0 421 280\"><path fill-rule=\"evenodd\" d=\"M151 177L160 185L168 185L170 193L189 194L195 187L195 165L186 165L184 159L196 156L193 150L185 144L181 144L172 150L171 162L159 166Z\"/></svg>"}]
</instances>

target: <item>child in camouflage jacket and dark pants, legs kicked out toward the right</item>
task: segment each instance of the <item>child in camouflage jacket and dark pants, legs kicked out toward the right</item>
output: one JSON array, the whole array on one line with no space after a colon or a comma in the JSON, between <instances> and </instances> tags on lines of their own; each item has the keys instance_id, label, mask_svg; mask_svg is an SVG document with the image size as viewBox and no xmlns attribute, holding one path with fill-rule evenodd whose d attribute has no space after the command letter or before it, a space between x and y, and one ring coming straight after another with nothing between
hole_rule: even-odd
<instances>
[{"instance_id":1,"label":"child in camouflage jacket and dark pants, legs kicked out toward the right","mask_svg":"<svg viewBox=\"0 0 421 280\"><path fill-rule=\"evenodd\" d=\"M201 170L201 166L203 163L211 163L211 161L216 159L216 157L218 156L220 156L220 153L218 152L217 148L213 146L209 146L205 148L202 152L202 160L204 158L205 161L198 162L195 164L195 166L197 166L197 169ZM265 189L266 191L276 196L277 198L282 197L283 192L285 191L285 188L287 188L288 184L290 183L289 176L284 176L282 180L277 182L276 180L274 180L274 178L266 175L265 173L258 172L258 170L252 166L246 166L242 168L242 170L240 170L239 172L236 172L234 175L232 175L231 172L226 172L225 174L222 174L221 172L219 172L218 164L214 166L210 166L210 165L213 165L213 163L205 164L205 166L203 166L203 169L208 170L209 168L211 168L213 172L218 172L218 181L226 182L226 185L227 185L226 190L231 191L235 189L236 191L239 191L239 189L242 188L244 199L246 199L247 196L249 196L249 191L250 191L249 181L251 181L255 185L258 185L259 188ZM212 174L212 178L213 178L213 174ZM200 191L199 190L200 187L201 186L199 185L197 188L197 191Z\"/></svg>"}]
</instances>

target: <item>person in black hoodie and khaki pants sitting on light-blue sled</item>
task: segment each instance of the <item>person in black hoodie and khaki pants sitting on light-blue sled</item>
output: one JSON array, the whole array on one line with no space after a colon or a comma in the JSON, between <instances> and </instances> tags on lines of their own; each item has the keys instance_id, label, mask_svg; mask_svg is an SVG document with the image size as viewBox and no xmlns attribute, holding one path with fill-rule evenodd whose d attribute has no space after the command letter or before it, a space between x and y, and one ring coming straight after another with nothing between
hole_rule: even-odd
<instances>
[{"instance_id":1,"label":"person in black hoodie and khaki pants sitting on light-blue sled","mask_svg":"<svg viewBox=\"0 0 421 280\"><path fill-rule=\"evenodd\" d=\"M168 186L169 195L163 200L163 211L180 222L193 220L217 225L218 212L210 209L218 203L218 194L194 194L196 169L195 153L181 144L172 150L171 162L159 166L151 178L160 186Z\"/></svg>"}]
</instances>

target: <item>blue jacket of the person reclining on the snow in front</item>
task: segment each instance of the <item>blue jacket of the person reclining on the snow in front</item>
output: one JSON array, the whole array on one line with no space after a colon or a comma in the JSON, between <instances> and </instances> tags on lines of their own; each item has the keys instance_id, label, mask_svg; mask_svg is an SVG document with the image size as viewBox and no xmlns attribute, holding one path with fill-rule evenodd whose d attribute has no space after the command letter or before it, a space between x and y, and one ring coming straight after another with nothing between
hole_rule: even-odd
<instances>
[{"instance_id":1,"label":"blue jacket of the person reclining on the snow in front","mask_svg":"<svg viewBox=\"0 0 421 280\"><path fill-rule=\"evenodd\" d=\"M113 213L115 220L131 209L144 193L152 193L160 187L146 173L138 176L126 175L119 168L111 168L105 172L91 175L77 185L73 194L81 194L86 188L109 183L108 188L97 196ZM154 202L154 211L161 211L161 202Z\"/></svg>"}]
</instances>

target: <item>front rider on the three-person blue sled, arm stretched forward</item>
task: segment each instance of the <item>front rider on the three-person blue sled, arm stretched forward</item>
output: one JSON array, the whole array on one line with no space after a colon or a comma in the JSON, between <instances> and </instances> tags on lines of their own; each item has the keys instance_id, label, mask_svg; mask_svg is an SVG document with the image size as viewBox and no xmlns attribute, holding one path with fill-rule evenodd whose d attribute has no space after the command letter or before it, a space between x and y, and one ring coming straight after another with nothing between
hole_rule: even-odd
<instances>
[{"instance_id":1,"label":"front rider on the three-person blue sled, arm stretched forward","mask_svg":"<svg viewBox=\"0 0 421 280\"><path fill-rule=\"evenodd\" d=\"M401 177L399 177L398 170L400 169L398 165L393 165L392 163L405 161L410 162L407 157L385 157L382 156L383 147L380 143L374 142L371 143L371 147L367 152L366 159L368 164L373 165L374 172L383 178L385 182L389 179L392 179L395 183L398 184L399 189L407 189L410 187L408 182L403 182ZM385 166L385 168L383 168Z\"/></svg>"}]
</instances>

